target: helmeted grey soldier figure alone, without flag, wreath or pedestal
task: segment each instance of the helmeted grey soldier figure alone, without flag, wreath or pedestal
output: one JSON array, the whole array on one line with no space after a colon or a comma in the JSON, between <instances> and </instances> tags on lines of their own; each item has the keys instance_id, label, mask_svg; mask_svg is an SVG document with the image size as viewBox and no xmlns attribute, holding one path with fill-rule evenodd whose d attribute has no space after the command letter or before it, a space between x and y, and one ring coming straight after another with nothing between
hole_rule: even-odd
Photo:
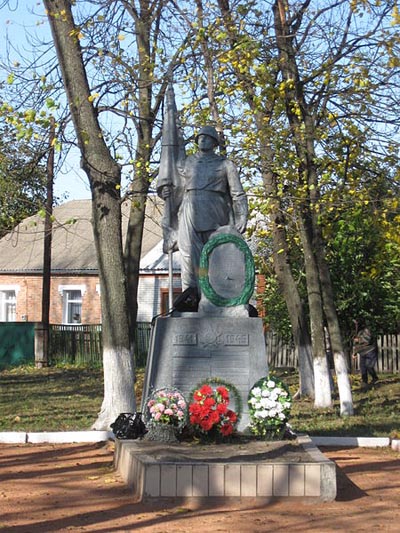
<instances>
[{"instance_id":1,"label":"helmeted grey soldier figure alone, without flag, wreath or pedestal","mask_svg":"<svg viewBox=\"0 0 400 533\"><path fill-rule=\"evenodd\" d=\"M202 127L195 139L198 153L176 160L179 180L175 184L158 181L158 194L171 197L171 220L177 217L176 244L181 254L182 289L198 287L201 250L210 235L221 226L231 225L240 233L246 229L247 198L236 166L214 150L218 133L212 126ZM178 197L178 201L176 199ZM171 224L171 232L173 231ZM170 238L170 246L174 246Z\"/></svg>"}]
</instances>

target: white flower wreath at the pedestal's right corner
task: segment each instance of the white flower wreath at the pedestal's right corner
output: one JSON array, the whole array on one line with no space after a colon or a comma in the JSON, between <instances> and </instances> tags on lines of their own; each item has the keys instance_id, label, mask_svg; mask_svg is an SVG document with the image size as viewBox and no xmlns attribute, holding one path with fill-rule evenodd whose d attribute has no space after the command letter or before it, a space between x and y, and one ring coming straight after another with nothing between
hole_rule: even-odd
<instances>
[{"instance_id":1,"label":"white flower wreath at the pedestal's right corner","mask_svg":"<svg viewBox=\"0 0 400 533\"><path fill-rule=\"evenodd\" d=\"M292 407L292 398L287 386L267 376L259 379L248 397L250 431L262 438L280 438L285 430Z\"/></svg>"}]
</instances>

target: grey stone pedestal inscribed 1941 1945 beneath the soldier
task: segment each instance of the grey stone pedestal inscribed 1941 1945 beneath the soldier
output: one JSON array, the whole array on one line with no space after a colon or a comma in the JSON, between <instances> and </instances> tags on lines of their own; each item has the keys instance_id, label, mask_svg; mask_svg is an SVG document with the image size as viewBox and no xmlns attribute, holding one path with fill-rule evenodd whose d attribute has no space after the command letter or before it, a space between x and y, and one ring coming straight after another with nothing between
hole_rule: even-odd
<instances>
[{"instance_id":1,"label":"grey stone pedestal inscribed 1941 1945 beneath the soldier","mask_svg":"<svg viewBox=\"0 0 400 533\"><path fill-rule=\"evenodd\" d=\"M261 319L197 313L159 317L152 330L142 410L153 390L175 387L189 400L203 380L219 378L232 383L240 393L243 410L238 429L244 431L249 425L249 390L267 374Z\"/></svg>"}]
</instances>

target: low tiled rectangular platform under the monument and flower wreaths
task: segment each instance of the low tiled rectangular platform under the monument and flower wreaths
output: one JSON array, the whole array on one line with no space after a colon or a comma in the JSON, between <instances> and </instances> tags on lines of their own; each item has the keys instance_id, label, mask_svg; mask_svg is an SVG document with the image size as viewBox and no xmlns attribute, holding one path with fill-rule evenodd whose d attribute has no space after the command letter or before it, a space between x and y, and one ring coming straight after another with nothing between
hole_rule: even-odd
<instances>
[{"instance_id":1,"label":"low tiled rectangular platform under the monument and flower wreaths","mask_svg":"<svg viewBox=\"0 0 400 533\"><path fill-rule=\"evenodd\" d=\"M336 497L336 467L308 437L244 444L116 441L115 466L136 501Z\"/></svg>"}]
</instances>

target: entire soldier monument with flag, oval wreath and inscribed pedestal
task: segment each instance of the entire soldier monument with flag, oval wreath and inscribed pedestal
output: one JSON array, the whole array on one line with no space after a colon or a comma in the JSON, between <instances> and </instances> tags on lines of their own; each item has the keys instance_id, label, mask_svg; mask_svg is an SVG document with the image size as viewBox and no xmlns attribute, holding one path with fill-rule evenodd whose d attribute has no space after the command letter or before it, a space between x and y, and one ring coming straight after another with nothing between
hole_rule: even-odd
<instances>
[{"instance_id":1,"label":"entire soldier monument with flag, oval wreath and inscribed pedestal","mask_svg":"<svg viewBox=\"0 0 400 533\"><path fill-rule=\"evenodd\" d=\"M215 153L216 129L199 128L195 142L198 150L187 155L170 84L157 193L165 201L163 249L169 260L179 249L184 292L170 305L168 316L154 320L142 405L151 391L162 387L189 395L199 379L213 378L219 369L219 377L240 393L242 431L250 420L248 391L268 372L262 320L249 316L254 261L241 237L247 198L234 163ZM179 311L191 312L196 306L197 315L180 316Z\"/></svg>"}]
</instances>

